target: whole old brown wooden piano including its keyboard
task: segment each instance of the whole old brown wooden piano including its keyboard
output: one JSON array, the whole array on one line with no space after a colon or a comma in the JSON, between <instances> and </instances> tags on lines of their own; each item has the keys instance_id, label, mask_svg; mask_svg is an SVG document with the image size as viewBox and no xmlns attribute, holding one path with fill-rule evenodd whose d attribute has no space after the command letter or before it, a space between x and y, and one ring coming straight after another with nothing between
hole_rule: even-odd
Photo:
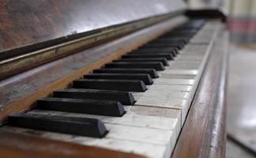
<instances>
[{"instance_id":1,"label":"whole old brown wooden piano including its keyboard","mask_svg":"<svg viewBox=\"0 0 256 158\"><path fill-rule=\"evenodd\" d=\"M181 0L0 10L1 157L225 157L220 10Z\"/></svg>"}]
</instances>

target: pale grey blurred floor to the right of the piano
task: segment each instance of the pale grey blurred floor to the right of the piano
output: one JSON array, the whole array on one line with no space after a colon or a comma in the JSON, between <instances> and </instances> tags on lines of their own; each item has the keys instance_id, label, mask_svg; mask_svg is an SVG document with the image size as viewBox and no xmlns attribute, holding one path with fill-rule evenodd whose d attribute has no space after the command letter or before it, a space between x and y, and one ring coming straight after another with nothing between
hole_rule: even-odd
<instances>
[{"instance_id":1,"label":"pale grey blurred floor to the right of the piano","mask_svg":"<svg viewBox=\"0 0 256 158\"><path fill-rule=\"evenodd\" d=\"M231 45L229 52L228 134L256 149L256 50ZM228 140L227 157L256 156Z\"/></svg>"}]
</instances>

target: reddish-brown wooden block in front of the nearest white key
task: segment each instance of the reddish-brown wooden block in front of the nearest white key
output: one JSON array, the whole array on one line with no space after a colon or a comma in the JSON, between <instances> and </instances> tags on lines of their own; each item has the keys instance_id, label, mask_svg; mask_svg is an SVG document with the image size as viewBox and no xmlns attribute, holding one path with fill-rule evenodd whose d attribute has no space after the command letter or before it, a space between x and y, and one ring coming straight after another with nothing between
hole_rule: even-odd
<instances>
[{"instance_id":1,"label":"reddish-brown wooden block in front of the nearest white key","mask_svg":"<svg viewBox=\"0 0 256 158\"><path fill-rule=\"evenodd\" d=\"M0 139L1 157L144 157L134 153L117 152L110 149L78 145L65 141L55 141L32 135L16 134L6 130L0 130Z\"/></svg>"}]
</instances>

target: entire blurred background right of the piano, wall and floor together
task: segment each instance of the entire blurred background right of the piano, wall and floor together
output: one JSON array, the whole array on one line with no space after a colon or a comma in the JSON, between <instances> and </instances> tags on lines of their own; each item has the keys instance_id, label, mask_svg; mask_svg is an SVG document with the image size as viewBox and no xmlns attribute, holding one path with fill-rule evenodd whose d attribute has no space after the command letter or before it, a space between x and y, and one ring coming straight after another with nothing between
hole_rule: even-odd
<instances>
[{"instance_id":1,"label":"entire blurred background right of the piano, wall and floor together","mask_svg":"<svg viewBox=\"0 0 256 158\"><path fill-rule=\"evenodd\" d=\"M228 15L228 158L256 157L256 0L188 0Z\"/></svg>"}]
</instances>

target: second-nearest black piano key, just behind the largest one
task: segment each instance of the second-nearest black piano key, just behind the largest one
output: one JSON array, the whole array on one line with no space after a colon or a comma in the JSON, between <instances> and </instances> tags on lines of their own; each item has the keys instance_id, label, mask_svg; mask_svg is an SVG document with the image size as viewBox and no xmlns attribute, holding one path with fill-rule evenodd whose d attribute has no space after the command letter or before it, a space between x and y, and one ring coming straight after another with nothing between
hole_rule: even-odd
<instances>
[{"instance_id":1,"label":"second-nearest black piano key, just behind the largest one","mask_svg":"<svg viewBox=\"0 0 256 158\"><path fill-rule=\"evenodd\" d=\"M43 110L66 111L81 114L121 117L125 114L122 103L111 100L84 100L46 97L37 100L36 107Z\"/></svg>"}]
</instances>

